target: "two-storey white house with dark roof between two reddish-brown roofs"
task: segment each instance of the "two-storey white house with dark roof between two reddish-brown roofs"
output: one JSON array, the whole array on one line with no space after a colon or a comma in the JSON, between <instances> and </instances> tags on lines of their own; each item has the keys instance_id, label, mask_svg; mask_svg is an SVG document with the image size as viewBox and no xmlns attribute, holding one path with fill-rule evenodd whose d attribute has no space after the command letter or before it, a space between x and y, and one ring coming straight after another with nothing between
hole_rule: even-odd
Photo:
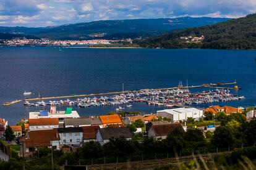
<instances>
[{"instance_id":1,"label":"two-storey white house with dark roof between two reddish-brown roofs","mask_svg":"<svg viewBox=\"0 0 256 170\"><path fill-rule=\"evenodd\" d=\"M82 127L58 128L60 144L79 146L83 142Z\"/></svg>"}]
</instances>

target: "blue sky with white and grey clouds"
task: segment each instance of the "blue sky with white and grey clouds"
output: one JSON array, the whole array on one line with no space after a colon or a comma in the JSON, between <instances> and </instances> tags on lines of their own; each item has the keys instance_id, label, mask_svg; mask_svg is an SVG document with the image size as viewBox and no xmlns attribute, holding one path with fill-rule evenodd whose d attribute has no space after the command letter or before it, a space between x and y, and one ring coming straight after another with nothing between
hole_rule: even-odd
<instances>
[{"instance_id":1,"label":"blue sky with white and grey clouds","mask_svg":"<svg viewBox=\"0 0 256 170\"><path fill-rule=\"evenodd\" d=\"M255 12L256 0L0 0L0 26L184 16L238 18Z\"/></svg>"}]
</instances>

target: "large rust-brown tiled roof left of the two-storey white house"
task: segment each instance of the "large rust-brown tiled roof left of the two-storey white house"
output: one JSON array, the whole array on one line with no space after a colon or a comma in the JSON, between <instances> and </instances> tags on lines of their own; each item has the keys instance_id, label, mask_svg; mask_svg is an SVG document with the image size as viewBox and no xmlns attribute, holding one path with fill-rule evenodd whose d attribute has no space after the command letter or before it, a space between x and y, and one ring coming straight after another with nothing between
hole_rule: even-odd
<instances>
[{"instance_id":1,"label":"large rust-brown tiled roof left of the two-storey white house","mask_svg":"<svg viewBox=\"0 0 256 170\"><path fill-rule=\"evenodd\" d=\"M51 146L52 140L60 140L58 129L30 131L28 139L25 139L25 146L27 148Z\"/></svg>"}]
</instances>

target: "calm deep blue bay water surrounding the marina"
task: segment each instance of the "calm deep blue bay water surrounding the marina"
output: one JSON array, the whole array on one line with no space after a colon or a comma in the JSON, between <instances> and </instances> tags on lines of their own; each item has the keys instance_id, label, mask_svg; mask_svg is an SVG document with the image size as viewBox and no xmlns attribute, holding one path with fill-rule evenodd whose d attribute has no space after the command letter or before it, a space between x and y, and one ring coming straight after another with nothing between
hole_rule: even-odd
<instances>
[{"instance_id":1,"label":"calm deep blue bay water surrounding the marina","mask_svg":"<svg viewBox=\"0 0 256 170\"><path fill-rule=\"evenodd\" d=\"M245 100L220 105L250 106L256 103L256 51L197 49L71 49L54 47L0 47L0 103L23 99L31 91L41 97L90 94L177 86L233 82ZM201 91L193 89L192 91ZM134 103L129 110L150 113L161 109ZM207 107L204 105L203 107ZM65 107L60 109L64 110ZM103 115L116 107L74 108L80 115ZM0 117L15 124L28 117L23 103L0 107Z\"/></svg>"}]
</instances>

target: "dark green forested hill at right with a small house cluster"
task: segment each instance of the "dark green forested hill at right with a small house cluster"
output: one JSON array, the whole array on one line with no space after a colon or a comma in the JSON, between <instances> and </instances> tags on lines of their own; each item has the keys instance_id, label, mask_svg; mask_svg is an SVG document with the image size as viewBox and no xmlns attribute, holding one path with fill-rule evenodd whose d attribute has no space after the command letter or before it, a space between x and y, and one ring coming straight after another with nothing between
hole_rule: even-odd
<instances>
[{"instance_id":1,"label":"dark green forested hill at right with a small house cluster","mask_svg":"<svg viewBox=\"0 0 256 170\"><path fill-rule=\"evenodd\" d=\"M190 38L204 36L200 41ZM144 47L256 49L256 14L214 25L172 31L137 42Z\"/></svg>"}]
</instances>

